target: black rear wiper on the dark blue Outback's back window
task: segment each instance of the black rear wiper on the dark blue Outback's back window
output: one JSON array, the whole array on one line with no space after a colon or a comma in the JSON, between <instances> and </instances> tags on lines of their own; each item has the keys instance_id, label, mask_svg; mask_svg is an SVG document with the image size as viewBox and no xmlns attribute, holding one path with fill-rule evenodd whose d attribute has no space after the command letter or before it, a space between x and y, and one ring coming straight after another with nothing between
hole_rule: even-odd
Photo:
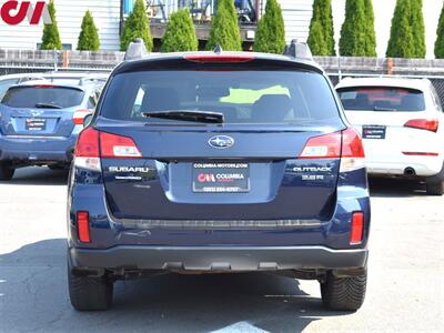
<instances>
[{"instance_id":1,"label":"black rear wiper on the dark blue Outback's back window","mask_svg":"<svg viewBox=\"0 0 444 333\"><path fill-rule=\"evenodd\" d=\"M210 111L167 110L167 111L143 112L142 114L145 118L171 119L171 120L193 121L203 123L223 123L224 121L223 113L210 112Z\"/></svg>"}]
</instances>

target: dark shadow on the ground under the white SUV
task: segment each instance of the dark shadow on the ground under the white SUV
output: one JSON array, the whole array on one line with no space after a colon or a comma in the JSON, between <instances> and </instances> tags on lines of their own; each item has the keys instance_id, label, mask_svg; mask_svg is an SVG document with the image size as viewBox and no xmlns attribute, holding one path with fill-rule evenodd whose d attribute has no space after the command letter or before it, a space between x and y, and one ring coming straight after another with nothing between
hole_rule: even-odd
<instances>
[{"instance_id":1,"label":"dark shadow on the ground under the white SUV","mask_svg":"<svg viewBox=\"0 0 444 333\"><path fill-rule=\"evenodd\" d=\"M370 195L374 198L426 196L425 183L395 178L369 178Z\"/></svg>"}]
</instances>

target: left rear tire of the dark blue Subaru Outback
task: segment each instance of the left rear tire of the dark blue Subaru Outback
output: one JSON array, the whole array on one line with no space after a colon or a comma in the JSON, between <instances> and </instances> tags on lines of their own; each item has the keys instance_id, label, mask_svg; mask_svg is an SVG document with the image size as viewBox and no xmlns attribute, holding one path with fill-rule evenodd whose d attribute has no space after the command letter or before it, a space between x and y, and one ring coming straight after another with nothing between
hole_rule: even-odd
<instances>
[{"instance_id":1,"label":"left rear tire of the dark blue Subaru Outback","mask_svg":"<svg viewBox=\"0 0 444 333\"><path fill-rule=\"evenodd\" d=\"M68 266L68 286L72 306L78 311L104 311L111 307L113 283L105 276L77 276Z\"/></svg>"}]
</instances>

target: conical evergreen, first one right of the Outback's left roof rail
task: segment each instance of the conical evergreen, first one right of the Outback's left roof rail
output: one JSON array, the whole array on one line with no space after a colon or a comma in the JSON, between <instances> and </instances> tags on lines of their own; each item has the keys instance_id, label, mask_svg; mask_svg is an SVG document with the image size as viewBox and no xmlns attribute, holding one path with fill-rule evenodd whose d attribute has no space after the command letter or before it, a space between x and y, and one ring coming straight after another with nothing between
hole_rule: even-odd
<instances>
[{"instance_id":1,"label":"conical evergreen, first one right of the Outback's left roof rail","mask_svg":"<svg viewBox=\"0 0 444 333\"><path fill-rule=\"evenodd\" d=\"M171 14L162 39L162 52L196 51L198 37L188 8Z\"/></svg>"}]
</instances>

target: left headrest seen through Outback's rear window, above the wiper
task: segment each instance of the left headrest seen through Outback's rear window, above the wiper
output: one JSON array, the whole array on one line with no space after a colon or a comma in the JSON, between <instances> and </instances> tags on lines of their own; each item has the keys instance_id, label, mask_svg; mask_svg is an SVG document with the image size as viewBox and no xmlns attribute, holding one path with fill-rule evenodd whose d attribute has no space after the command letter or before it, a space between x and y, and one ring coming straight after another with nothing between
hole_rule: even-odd
<instances>
[{"instance_id":1,"label":"left headrest seen through Outback's rear window, above the wiper","mask_svg":"<svg viewBox=\"0 0 444 333\"><path fill-rule=\"evenodd\" d=\"M172 88L148 88L143 97L141 112L179 109L179 95Z\"/></svg>"}]
</instances>

